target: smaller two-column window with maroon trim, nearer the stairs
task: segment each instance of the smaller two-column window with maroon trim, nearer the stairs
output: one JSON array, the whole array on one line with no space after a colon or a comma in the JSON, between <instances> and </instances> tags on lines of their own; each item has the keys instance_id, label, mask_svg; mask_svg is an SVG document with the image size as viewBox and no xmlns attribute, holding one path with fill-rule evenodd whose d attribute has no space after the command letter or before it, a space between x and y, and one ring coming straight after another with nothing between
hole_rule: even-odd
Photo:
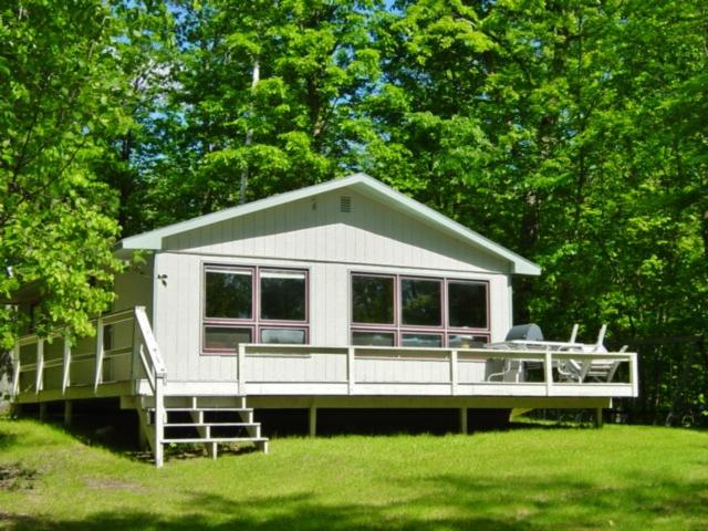
<instances>
[{"instance_id":1,"label":"smaller two-column window with maroon trim, nearer the stairs","mask_svg":"<svg viewBox=\"0 0 708 531\"><path fill-rule=\"evenodd\" d=\"M235 354L239 343L308 343L306 271L205 266L202 285L205 354Z\"/></svg>"}]
</instances>

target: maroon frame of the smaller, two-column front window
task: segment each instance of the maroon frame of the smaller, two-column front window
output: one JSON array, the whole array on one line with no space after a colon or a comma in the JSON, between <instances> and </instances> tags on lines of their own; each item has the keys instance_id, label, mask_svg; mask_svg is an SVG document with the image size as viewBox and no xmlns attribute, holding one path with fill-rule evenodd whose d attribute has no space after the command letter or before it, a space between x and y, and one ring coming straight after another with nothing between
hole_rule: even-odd
<instances>
[{"instance_id":1,"label":"maroon frame of the smaller, two-column front window","mask_svg":"<svg viewBox=\"0 0 708 531\"><path fill-rule=\"evenodd\" d=\"M249 271L252 279L251 284L251 317L208 317L207 311L207 273L211 271ZM304 320L287 321L274 319L261 319L261 271L287 271L296 272L304 275ZM304 332L304 343L310 344L310 270L306 268L291 268L281 266L241 266L231 263L205 262L201 266L200 278L200 326L199 347L201 355L232 355L238 354L238 348L209 348L206 346L206 330L208 326L223 329L248 329L251 332L251 343L260 343L261 329L278 330L302 330Z\"/></svg>"}]
</instances>

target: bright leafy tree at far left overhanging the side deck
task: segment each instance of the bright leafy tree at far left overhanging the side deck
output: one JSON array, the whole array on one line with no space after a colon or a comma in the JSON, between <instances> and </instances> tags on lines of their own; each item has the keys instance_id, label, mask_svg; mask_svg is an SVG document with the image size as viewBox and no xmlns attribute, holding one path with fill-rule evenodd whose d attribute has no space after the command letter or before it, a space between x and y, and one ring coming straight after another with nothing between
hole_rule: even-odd
<instances>
[{"instance_id":1,"label":"bright leafy tree at far left overhanging the side deck","mask_svg":"<svg viewBox=\"0 0 708 531\"><path fill-rule=\"evenodd\" d=\"M0 9L0 334L8 302L37 302L34 327L88 333L112 300L115 195L93 170L127 123L116 95L110 10L100 0L15 0Z\"/></svg>"}]
</instances>

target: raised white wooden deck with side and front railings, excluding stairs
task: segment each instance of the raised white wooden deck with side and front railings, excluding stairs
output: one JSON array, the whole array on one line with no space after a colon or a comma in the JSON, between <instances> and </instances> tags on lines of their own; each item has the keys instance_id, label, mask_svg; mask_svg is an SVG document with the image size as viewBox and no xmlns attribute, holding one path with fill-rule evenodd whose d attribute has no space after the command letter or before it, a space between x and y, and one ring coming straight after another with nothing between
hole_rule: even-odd
<instances>
[{"instance_id":1,"label":"raised white wooden deck with side and front railings, excluding stairs","mask_svg":"<svg viewBox=\"0 0 708 531\"><path fill-rule=\"evenodd\" d=\"M116 319L105 317L102 326L116 323ZM154 393L152 361L144 361L146 351L140 341L112 350L102 347L103 340L96 340L96 344L95 352L77 355L64 344L61 356L49 357L45 341L22 339L15 348L15 400ZM31 353L21 350L30 345ZM28 360L31 354L34 358ZM237 371L222 375L219 382L173 382L163 368L164 393L569 398L632 397L638 393L635 353L249 344L240 345L237 356ZM624 367L611 382L571 382L556 368L566 360L586 364L608 361Z\"/></svg>"}]
</instances>

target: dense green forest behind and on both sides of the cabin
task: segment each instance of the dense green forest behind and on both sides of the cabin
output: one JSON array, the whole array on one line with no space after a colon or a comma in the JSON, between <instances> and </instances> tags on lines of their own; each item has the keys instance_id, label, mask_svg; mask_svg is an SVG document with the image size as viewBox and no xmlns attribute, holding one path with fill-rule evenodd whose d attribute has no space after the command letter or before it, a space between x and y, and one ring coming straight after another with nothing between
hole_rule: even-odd
<instances>
[{"instance_id":1,"label":"dense green forest behind and on both sides of the cabin","mask_svg":"<svg viewBox=\"0 0 708 531\"><path fill-rule=\"evenodd\" d=\"M516 322L641 354L705 424L704 0L7 0L0 337L87 319L116 239L365 171L543 268Z\"/></svg>"}]
</instances>

